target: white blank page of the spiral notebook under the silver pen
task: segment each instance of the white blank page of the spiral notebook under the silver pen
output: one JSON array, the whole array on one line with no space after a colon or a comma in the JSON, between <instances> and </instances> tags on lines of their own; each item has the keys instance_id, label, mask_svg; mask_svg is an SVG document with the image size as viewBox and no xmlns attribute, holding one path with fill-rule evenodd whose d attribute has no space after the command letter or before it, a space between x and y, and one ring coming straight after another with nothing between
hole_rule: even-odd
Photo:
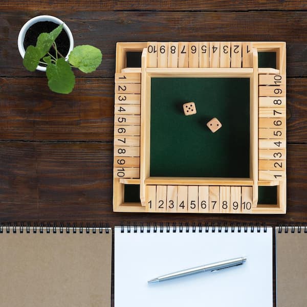
<instances>
[{"instance_id":1,"label":"white blank page of the spiral notebook under the silver pen","mask_svg":"<svg viewBox=\"0 0 307 307\"><path fill-rule=\"evenodd\" d=\"M115 307L272 306L272 250L271 227L115 227ZM240 256L242 266L147 283Z\"/></svg>"}]
</instances>

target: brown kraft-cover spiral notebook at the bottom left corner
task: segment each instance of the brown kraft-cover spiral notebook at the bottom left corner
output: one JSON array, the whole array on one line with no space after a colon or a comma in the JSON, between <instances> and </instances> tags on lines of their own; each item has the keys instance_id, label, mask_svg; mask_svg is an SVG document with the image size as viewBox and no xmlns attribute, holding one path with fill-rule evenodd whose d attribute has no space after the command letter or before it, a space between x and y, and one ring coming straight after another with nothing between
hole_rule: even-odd
<instances>
[{"instance_id":1,"label":"brown kraft-cover spiral notebook at the bottom left corner","mask_svg":"<svg viewBox=\"0 0 307 307\"><path fill-rule=\"evenodd\" d=\"M3 227L0 307L109 307L111 255L108 228Z\"/></svg>"}]
</instances>

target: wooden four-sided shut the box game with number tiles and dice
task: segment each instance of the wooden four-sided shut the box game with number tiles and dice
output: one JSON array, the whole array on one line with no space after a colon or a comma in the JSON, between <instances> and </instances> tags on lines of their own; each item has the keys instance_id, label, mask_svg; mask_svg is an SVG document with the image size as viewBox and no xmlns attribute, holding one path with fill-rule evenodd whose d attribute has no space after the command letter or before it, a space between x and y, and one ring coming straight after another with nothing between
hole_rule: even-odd
<instances>
[{"instance_id":1,"label":"wooden four-sided shut the box game with number tiles and dice","mask_svg":"<svg viewBox=\"0 0 307 307\"><path fill-rule=\"evenodd\" d=\"M118 42L113 209L286 213L286 43Z\"/></svg>"}]
</instances>

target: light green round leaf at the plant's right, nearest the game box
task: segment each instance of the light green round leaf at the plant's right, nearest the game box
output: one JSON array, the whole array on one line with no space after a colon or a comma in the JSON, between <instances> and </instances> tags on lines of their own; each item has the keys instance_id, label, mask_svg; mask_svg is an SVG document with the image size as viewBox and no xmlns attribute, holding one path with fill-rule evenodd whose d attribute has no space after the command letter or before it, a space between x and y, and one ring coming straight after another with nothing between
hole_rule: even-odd
<instances>
[{"instance_id":1,"label":"light green round leaf at the plant's right, nearest the game box","mask_svg":"<svg viewBox=\"0 0 307 307\"><path fill-rule=\"evenodd\" d=\"M83 73L91 73L100 65L101 51L90 45L75 47L69 55L69 62Z\"/></svg>"}]
</instances>

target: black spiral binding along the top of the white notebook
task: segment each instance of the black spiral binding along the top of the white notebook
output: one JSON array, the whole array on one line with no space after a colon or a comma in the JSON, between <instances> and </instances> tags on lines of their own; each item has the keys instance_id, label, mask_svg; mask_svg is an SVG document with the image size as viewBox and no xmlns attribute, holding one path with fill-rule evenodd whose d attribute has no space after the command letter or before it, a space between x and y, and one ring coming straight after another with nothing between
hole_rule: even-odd
<instances>
[{"instance_id":1,"label":"black spiral binding along the top of the white notebook","mask_svg":"<svg viewBox=\"0 0 307 307\"><path fill-rule=\"evenodd\" d=\"M233 223L230 224L230 226L227 223L224 223L223 225L221 223L218 223L217 225L215 225L215 223L211 223L209 225L209 223L205 223L205 225L203 226L202 223L199 223L198 225L196 225L195 223L192 223L192 225L190 226L189 223L172 223L170 225L170 223L147 223L146 226L144 226L144 223L140 223L140 225L138 226L138 223L133 223L133 226L130 225L130 223L128 222L126 225L124 225L124 223L121 223L120 225L120 232L121 233L176 233L176 232L186 232L186 233L195 233L195 232L204 232L204 233L208 233L208 232L217 232L217 233L221 233L221 232L267 232L267 225L264 223L262 225L260 224L246 224L244 223L242 224L236 224L234 225Z\"/></svg>"}]
</instances>

